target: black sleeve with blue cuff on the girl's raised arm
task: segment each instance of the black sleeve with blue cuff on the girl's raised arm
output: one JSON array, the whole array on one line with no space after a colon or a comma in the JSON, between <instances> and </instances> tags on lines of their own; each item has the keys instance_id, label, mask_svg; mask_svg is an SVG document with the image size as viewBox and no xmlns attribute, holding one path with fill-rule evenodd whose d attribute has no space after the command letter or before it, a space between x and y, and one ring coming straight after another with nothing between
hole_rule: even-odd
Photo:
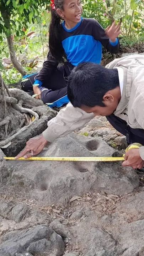
<instances>
[{"instance_id":1,"label":"black sleeve with blue cuff on the girl's raised arm","mask_svg":"<svg viewBox=\"0 0 144 256\"><path fill-rule=\"evenodd\" d=\"M115 42L111 42L110 38L106 36L105 30L96 20L95 20L95 24L93 24L92 36L95 38L95 40L100 41L103 47L105 47L105 49L107 49L109 52L111 53L119 52L119 39L116 38Z\"/></svg>"}]
</instances>

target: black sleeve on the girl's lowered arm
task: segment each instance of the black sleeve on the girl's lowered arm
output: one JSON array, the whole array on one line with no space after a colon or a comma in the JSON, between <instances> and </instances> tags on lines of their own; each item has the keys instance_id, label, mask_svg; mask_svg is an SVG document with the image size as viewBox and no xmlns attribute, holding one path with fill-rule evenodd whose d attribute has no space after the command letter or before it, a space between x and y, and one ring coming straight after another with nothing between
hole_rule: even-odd
<instances>
[{"instance_id":1,"label":"black sleeve on the girl's lowered arm","mask_svg":"<svg viewBox=\"0 0 144 256\"><path fill-rule=\"evenodd\" d=\"M35 80L42 82L47 81L49 76L52 74L52 71L58 66L57 60L48 52L47 60L43 63L42 69L39 71L39 74L35 77ZM41 84L41 85L42 85Z\"/></svg>"}]
</instances>

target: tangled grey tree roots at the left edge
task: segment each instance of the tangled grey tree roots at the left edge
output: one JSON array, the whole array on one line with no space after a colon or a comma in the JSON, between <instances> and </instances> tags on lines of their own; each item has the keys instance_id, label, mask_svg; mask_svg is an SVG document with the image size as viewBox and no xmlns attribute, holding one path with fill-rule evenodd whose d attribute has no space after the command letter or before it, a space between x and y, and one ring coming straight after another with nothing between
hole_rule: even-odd
<instances>
[{"instance_id":1,"label":"tangled grey tree roots at the left edge","mask_svg":"<svg viewBox=\"0 0 144 256\"><path fill-rule=\"evenodd\" d=\"M2 139L0 141L0 147L10 143L12 139L24 132L27 128L31 127L32 123L39 119L38 114L31 110L31 108L41 105L43 105L41 100L32 98L20 89L9 90L0 74L0 138ZM30 107L30 109L28 107ZM26 119L21 113L28 113L34 116L34 121L27 126L23 126L25 125Z\"/></svg>"}]
</instances>

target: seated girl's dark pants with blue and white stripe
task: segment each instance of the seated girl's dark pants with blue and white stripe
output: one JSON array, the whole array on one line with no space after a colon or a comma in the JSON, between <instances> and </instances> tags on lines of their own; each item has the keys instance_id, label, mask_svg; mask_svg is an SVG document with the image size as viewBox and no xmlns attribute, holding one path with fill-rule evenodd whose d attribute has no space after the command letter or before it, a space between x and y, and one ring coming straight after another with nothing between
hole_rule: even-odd
<instances>
[{"instance_id":1,"label":"seated girl's dark pants with blue and white stripe","mask_svg":"<svg viewBox=\"0 0 144 256\"><path fill-rule=\"evenodd\" d=\"M23 78L28 80L24 80L21 83L21 89L30 95L33 95L33 83L36 75L37 73L24 76ZM67 74L65 74L64 66L55 69L49 80L44 81L42 85L42 87L45 87L47 90L41 88L41 100L44 103L53 103L50 104L51 107L61 107L68 103L66 79Z\"/></svg>"}]
</instances>

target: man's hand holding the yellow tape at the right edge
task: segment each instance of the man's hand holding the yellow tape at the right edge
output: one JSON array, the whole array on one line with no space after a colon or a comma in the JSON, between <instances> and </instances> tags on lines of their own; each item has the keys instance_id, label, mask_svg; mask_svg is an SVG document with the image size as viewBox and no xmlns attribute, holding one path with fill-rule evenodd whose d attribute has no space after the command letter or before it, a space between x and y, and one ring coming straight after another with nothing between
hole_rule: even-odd
<instances>
[{"instance_id":1,"label":"man's hand holding the yellow tape at the right edge","mask_svg":"<svg viewBox=\"0 0 144 256\"><path fill-rule=\"evenodd\" d=\"M144 161L140 157L139 149L129 149L124 155L125 161L122 163L122 166L131 166L133 169L140 169L144 166Z\"/></svg>"}]
</instances>

